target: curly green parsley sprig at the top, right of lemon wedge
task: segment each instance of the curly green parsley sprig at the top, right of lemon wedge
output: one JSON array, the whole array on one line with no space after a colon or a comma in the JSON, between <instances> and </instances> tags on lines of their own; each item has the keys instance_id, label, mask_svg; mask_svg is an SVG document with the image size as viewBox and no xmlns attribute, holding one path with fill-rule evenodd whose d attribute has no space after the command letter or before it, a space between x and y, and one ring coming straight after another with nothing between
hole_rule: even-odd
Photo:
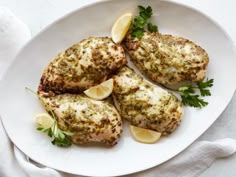
<instances>
[{"instance_id":1,"label":"curly green parsley sprig at the top, right of lemon wedge","mask_svg":"<svg viewBox=\"0 0 236 177\"><path fill-rule=\"evenodd\" d=\"M148 23L148 20L152 16L152 8L150 6L143 7L138 6L139 8L139 15L135 16L134 20L132 21L130 31L132 37L141 38L147 28L150 32L158 32L158 27L153 25L152 23Z\"/></svg>"}]
</instances>

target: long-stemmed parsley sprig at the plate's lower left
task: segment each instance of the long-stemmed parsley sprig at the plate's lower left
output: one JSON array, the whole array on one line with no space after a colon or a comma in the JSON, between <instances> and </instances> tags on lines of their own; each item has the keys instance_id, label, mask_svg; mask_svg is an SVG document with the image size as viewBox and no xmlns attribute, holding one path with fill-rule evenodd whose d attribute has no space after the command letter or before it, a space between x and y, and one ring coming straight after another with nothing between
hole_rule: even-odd
<instances>
[{"instance_id":1,"label":"long-stemmed parsley sprig at the plate's lower left","mask_svg":"<svg viewBox=\"0 0 236 177\"><path fill-rule=\"evenodd\" d=\"M56 120L56 116L54 114L54 112L52 111L52 109L49 107L48 104L46 104L44 102L44 100L42 99L42 97L40 95L38 95L36 92L34 92L33 90L31 90L28 87L25 87L26 90L30 91L31 93L35 94L43 103L44 105L47 107L47 109L49 110L50 115L52 116L54 122L52 124L51 127L45 128L45 127L38 127L37 130L47 133L47 135L52 139L52 144L59 146L59 147L68 147L70 146L72 143L71 141L67 138L67 136L72 136L73 133L72 132L68 132L68 131L63 131L61 129L58 128L57 126L57 120Z\"/></svg>"}]
</instances>

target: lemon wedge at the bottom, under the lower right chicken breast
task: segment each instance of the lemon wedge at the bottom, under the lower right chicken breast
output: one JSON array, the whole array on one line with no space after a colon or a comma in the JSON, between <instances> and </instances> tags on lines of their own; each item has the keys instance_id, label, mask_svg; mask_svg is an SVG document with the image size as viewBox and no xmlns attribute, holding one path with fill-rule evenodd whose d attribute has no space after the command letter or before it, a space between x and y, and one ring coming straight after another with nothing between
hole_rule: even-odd
<instances>
[{"instance_id":1,"label":"lemon wedge at the bottom, under the lower right chicken breast","mask_svg":"<svg viewBox=\"0 0 236 177\"><path fill-rule=\"evenodd\" d=\"M161 133L159 132L145 128L135 127L133 125L130 125L130 130L134 139L141 143L153 144L157 142L161 137Z\"/></svg>"}]
</instances>

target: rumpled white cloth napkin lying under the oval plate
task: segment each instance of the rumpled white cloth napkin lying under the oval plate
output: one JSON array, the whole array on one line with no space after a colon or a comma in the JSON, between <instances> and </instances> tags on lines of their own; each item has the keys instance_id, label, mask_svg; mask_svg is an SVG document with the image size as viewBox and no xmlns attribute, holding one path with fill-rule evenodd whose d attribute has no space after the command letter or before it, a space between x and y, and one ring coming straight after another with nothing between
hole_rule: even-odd
<instances>
[{"instance_id":1,"label":"rumpled white cloth napkin lying under the oval plate","mask_svg":"<svg viewBox=\"0 0 236 177\"><path fill-rule=\"evenodd\" d=\"M0 7L0 77L14 55L30 38L29 29L9 10ZM222 129L220 125L215 129ZM0 121L1 177L76 177L39 165L30 160L9 140ZM127 177L196 177L219 158L236 151L236 140L197 141L168 162ZM78 176L77 176L78 177Z\"/></svg>"}]
</instances>

